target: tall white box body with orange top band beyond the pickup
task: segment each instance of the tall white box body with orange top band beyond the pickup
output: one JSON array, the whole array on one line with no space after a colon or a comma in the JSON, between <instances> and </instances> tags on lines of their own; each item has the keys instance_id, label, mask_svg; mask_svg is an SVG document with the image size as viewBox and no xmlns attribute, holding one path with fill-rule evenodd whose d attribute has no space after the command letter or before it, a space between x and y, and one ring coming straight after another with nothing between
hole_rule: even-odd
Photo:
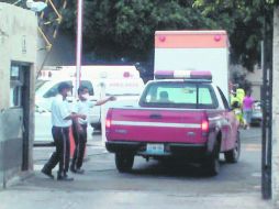
<instances>
[{"instance_id":1,"label":"tall white box body with orange top band beyond the pickup","mask_svg":"<svg viewBox=\"0 0 279 209\"><path fill-rule=\"evenodd\" d=\"M228 99L228 37L225 31L157 31L156 70L210 70Z\"/></svg>"}]
</instances>

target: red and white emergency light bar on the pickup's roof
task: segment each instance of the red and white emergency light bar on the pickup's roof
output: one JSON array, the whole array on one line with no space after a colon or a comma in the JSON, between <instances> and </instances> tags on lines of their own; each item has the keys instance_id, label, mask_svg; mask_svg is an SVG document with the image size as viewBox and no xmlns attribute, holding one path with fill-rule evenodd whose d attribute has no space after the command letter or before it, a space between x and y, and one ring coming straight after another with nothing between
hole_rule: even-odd
<instances>
[{"instance_id":1,"label":"red and white emergency light bar on the pickup's roof","mask_svg":"<svg viewBox=\"0 0 279 209\"><path fill-rule=\"evenodd\" d=\"M200 70L157 70L154 73L156 79L203 79L212 80L211 72Z\"/></svg>"}]
</instances>

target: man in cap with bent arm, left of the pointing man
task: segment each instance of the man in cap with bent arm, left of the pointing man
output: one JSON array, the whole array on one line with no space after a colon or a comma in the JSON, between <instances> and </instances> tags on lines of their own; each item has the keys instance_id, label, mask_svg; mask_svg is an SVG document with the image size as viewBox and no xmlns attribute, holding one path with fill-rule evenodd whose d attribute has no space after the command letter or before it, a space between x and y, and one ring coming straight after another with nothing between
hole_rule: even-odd
<instances>
[{"instance_id":1,"label":"man in cap with bent arm, left of the pointing man","mask_svg":"<svg viewBox=\"0 0 279 209\"><path fill-rule=\"evenodd\" d=\"M86 116L74 113L70 110L66 98L70 94L71 88L68 82L60 82L58 95L52 102L52 134L56 151L44 165L42 173L54 179L52 169L59 164L57 180L74 180L67 175L69 168L69 128L72 120L86 118Z\"/></svg>"}]
</instances>

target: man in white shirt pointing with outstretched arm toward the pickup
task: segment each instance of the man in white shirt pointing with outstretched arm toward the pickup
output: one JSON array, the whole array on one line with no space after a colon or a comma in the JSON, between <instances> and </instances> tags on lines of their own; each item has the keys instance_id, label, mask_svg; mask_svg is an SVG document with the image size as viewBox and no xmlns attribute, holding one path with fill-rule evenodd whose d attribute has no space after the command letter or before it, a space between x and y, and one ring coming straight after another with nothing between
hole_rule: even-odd
<instances>
[{"instance_id":1,"label":"man in white shirt pointing with outstretched arm toward the pickup","mask_svg":"<svg viewBox=\"0 0 279 209\"><path fill-rule=\"evenodd\" d=\"M101 106L108 101L115 100L115 97L109 97L103 100L97 101L94 105L90 103L89 99L89 91L87 87L79 87L78 88L78 102L76 103L75 112L79 114L87 116L86 119L78 118L74 120L72 123L72 134L75 139L76 148L74 152L70 170L77 174L83 174L83 169L81 169L86 143L87 143L87 124L88 124L88 116L90 113L90 108L93 106Z\"/></svg>"}]
</instances>

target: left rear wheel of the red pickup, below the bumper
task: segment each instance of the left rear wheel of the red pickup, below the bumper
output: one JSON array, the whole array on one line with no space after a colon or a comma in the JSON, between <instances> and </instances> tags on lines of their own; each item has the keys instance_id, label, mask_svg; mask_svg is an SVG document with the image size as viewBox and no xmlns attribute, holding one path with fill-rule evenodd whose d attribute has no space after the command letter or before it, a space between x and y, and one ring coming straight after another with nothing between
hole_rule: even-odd
<instances>
[{"instance_id":1,"label":"left rear wheel of the red pickup, below the bumper","mask_svg":"<svg viewBox=\"0 0 279 209\"><path fill-rule=\"evenodd\" d=\"M131 172L133 164L133 154L115 153L115 165L120 173Z\"/></svg>"}]
</instances>

